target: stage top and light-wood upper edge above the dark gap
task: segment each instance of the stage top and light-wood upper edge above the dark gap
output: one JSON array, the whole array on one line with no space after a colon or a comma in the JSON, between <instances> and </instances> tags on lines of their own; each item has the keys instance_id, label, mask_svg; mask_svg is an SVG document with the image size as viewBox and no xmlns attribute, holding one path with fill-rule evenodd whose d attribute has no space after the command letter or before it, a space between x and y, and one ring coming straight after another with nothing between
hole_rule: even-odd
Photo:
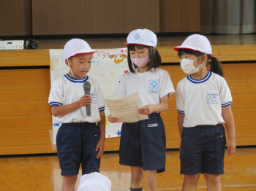
<instances>
[{"instance_id":1,"label":"stage top and light-wood upper edge above the dark gap","mask_svg":"<svg viewBox=\"0 0 256 191\"><path fill-rule=\"evenodd\" d=\"M256 61L256 34L211 35L213 55L219 61ZM173 47L181 45L187 36L159 37L157 49L162 63L178 63ZM49 49L63 49L69 39L39 40L37 50L0 50L1 66L48 66ZM125 47L126 38L85 39L92 49Z\"/></svg>"}]
</instances>

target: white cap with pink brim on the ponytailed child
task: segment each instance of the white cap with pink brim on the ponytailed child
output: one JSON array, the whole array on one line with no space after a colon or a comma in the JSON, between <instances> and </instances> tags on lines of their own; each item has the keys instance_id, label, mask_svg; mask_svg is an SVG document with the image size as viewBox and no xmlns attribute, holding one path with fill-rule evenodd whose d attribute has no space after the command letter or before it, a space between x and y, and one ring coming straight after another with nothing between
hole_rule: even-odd
<instances>
[{"instance_id":1,"label":"white cap with pink brim on the ponytailed child","mask_svg":"<svg viewBox=\"0 0 256 191\"><path fill-rule=\"evenodd\" d=\"M181 46L174 47L173 49L176 51L179 49L190 49L211 55L211 43L206 36L200 34L190 35Z\"/></svg>"}]
</instances>

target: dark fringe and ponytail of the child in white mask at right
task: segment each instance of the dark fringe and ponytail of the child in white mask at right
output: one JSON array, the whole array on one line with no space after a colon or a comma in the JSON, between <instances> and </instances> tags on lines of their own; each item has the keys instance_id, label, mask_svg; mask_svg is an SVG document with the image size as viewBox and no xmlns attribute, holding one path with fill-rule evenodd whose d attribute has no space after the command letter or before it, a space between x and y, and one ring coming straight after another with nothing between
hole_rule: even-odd
<instances>
[{"instance_id":1,"label":"dark fringe and ponytail of the child in white mask at right","mask_svg":"<svg viewBox=\"0 0 256 191\"><path fill-rule=\"evenodd\" d=\"M189 55L196 55L197 57L200 57L201 55L205 55L205 53L203 52L199 52L199 51L195 51L195 50L191 50L191 49L180 49L178 50L178 56L181 57L181 55L183 54L189 54ZM222 71L222 66L220 65L219 61L217 60L217 58L211 56L211 55L207 55L207 63L206 66L208 66L209 64L209 59L211 59L211 69L210 71L214 72L215 74L219 74L219 76L223 77L223 71Z\"/></svg>"}]
</instances>

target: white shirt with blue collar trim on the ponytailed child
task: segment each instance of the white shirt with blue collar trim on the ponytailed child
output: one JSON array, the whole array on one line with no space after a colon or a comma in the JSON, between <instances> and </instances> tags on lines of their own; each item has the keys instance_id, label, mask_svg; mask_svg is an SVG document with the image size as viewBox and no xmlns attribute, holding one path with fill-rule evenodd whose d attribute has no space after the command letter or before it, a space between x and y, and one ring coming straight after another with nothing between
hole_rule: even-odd
<instances>
[{"instance_id":1,"label":"white shirt with blue collar trim on the ponytailed child","mask_svg":"<svg viewBox=\"0 0 256 191\"><path fill-rule=\"evenodd\" d=\"M176 108L185 114L185 128L225 123L222 107L230 106L231 101L227 82L211 71L203 79L193 79L189 75L177 85Z\"/></svg>"}]
</instances>

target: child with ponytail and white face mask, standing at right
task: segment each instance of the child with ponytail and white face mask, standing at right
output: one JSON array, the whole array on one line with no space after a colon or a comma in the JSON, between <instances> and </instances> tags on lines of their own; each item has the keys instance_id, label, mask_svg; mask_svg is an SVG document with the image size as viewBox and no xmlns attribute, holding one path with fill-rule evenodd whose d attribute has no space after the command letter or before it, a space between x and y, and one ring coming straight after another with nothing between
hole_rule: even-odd
<instances>
[{"instance_id":1,"label":"child with ponytail and white face mask, standing at right","mask_svg":"<svg viewBox=\"0 0 256 191\"><path fill-rule=\"evenodd\" d=\"M211 55L206 36L189 36L174 50L181 58L181 69L189 74L178 82L176 90L181 174L184 174L182 190L197 190L200 174L204 174L207 190L219 191L226 145L222 123L228 133L227 154L233 155L236 150L230 89L223 78L222 66Z\"/></svg>"}]
</instances>

